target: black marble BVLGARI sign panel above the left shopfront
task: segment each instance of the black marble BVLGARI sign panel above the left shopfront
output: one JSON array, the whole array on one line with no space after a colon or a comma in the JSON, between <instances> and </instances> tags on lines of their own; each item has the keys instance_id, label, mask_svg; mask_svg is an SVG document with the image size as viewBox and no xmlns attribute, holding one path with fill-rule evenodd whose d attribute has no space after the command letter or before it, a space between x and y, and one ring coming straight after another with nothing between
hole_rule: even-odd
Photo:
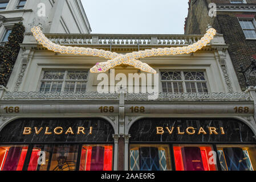
<instances>
[{"instance_id":1,"label":"black marble BVLGARI sign panel above the left shopfront","mask_svg":"<svg viewBox=\"0 0 256 182\"><path fill-rule=\"evenodd\" d=\"M0 142L113 142L112 125L101 118L22 118L0 132Z\"/></svg>"}]
</instances>

